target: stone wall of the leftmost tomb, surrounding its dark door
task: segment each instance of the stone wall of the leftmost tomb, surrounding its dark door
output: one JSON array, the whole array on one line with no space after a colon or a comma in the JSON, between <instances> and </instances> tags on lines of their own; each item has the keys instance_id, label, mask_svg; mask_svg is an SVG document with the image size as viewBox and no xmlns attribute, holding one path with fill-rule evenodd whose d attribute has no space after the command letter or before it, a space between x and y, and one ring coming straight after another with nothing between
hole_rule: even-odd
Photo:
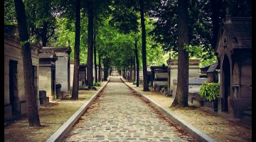
<instances>
[{"instance_id":1,"label":"stone wall of the leftmost tomb, surrounding its dark door","mask_svg":"<svg viewBox=\"0 0 256 142\"><path fill-rule=\"evenodd\" d=\"M35 77L35 87L36 87L36 100L39 107L39 92L38 92L38 70L39 70L39 59L38 50L36 45L31 45L31 56L32 65L36 67L36 77ZM9 99L9 62L14 60L17 62L17 92L18 100L20 104L21 115L27 113L26 107L26 96L25 96L25 86L23 77L23 59L21 55L21 45L18 38L13 35L4 34L4 120L13 119L14 116L11 112L11 104Z\"/></svg>"}]
</instances>

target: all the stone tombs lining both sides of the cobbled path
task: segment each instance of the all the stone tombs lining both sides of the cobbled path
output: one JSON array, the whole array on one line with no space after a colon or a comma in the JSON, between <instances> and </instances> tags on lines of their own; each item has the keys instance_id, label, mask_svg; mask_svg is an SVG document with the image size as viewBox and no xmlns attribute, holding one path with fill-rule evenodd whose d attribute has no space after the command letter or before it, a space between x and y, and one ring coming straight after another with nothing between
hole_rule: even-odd
<instances>
[{"instance_id":1,"label":"all the stone tombs lining both sides of the cobbled path","mask_svg":"<svg viewBox=\"0 0 256 142\"><path fill-rule=\"evenodd\" d=\"M251 116L252 106L252 31L251 18L230 17L221 26L215 53L218 63L199 68L198 60L189 61L188 102L196 106L210 106L198 97L203 82L219 82L220 97L211 107L219 114L231 118ZM23 61L21 45L14 36L14 27L5 28L4 35L4 117L12 119L26 114L26 98L23 85ZM73 62L70 47L40 47L31 45L33 80L38 106L42 100L62 97L56 95L61 84L62 91L70 91L73 84ZM166 96L175 97L178 61L167 60L168 66L151 66L148 80L151 87ZM80 65L80 84L86 80L86 65ZM199 72L199 70L201 70ZM102 69L101 69L102 71ZM111 73L111 72L110 72ZM201 73L201 74L200 74ZM95 74L95 73L94 73ZM116 72L117 74L117 72ZM119 72L120 74L120 72ZM102 77L102 72L100 73ZM142 75L142 72L139 72ZM126 75L127 76L127 75ZM143 83L142 76L139 81ZM57 88L56 88L57 87ZM39 90L44 90L39 93ZM40 95L41 94L41 95ZM43 99L44 98L44 99Z\"/></svg>"}]
</instances>

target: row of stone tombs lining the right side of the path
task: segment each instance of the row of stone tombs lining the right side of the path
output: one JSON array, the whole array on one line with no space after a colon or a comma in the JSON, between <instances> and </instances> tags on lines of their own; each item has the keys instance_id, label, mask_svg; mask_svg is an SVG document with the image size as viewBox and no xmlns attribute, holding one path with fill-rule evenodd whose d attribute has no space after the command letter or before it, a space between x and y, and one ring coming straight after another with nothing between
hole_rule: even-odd
<instances>
[{"instance_id":1,"label":"row of stone tombs lining the right side of the path","mask_svg":"<svg viewBox=\"0 0 256 142\"><path fill-rule=\"evenodd\" d=\"M202 109L218 111L230 119L251 120L252 106L252 31L251 18L232 17L220 28L215 49L219 61L199 67L199 60L189 60L188 103ZM149 87L167 97L175 97L178 60L167 60L168 66L151 66L147 70ZM123 75L129 78L129 73ZM208 102L200 96L203 82L220 83L220 96ZM143 84L142 70L139 83ZM250 123L250 122L248 122Z\"/></svg>"}]
</instances>

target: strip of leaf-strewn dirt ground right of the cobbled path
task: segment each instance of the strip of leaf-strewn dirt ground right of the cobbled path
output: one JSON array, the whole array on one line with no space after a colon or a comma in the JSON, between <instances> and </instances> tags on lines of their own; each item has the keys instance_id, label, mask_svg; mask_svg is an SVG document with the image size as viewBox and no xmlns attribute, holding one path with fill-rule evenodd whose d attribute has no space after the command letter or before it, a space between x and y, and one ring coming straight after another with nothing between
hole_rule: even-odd
<instances>
[{"instance_id":1,"label":"strip of leaf-strewn dirt ground right of the cobbled path","mask_svg":"<svg viewBox=\"0 0 256 142\"><path fill-rule=\"evenodd\" d=\"M170 109L178 117L189 122L191 125L196 127L196 129L206 133L216 141L252 141L252 129L244 124L229 121L218 114L198 108L170 108L174 98L165 97L161 92L143 92L142 85L140 85L140 87L136 87L136 84L129 82L127 82L127 84L146 95L146 97L153 99L161 106Z\"/></svg>"}]
</instances>

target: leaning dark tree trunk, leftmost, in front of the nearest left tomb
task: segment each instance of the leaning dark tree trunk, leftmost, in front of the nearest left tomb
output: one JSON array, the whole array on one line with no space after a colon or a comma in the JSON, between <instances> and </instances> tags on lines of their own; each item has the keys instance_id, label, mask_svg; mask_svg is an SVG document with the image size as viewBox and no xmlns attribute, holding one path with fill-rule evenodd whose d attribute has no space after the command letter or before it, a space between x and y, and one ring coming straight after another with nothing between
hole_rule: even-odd
<instances>
[{"instance_id":1,"label":"leaning dark tree trunk, leftmost, in front of the nearest left tomb","mask_svg":"<svg viewBox=\"0 0 256 142\"><path fill-rule=\"evenodd\" d=\"M29 126L39 127L40 119L36 104L36 91L33 88L31 46L28 41L28 28L26 22L25 6L22 0L14 0L16 18L18 22L19 37L21 40L21 51L23 58L23 75L26 94L26 105L28 108Z\"/></svg>"}]
</instances>

